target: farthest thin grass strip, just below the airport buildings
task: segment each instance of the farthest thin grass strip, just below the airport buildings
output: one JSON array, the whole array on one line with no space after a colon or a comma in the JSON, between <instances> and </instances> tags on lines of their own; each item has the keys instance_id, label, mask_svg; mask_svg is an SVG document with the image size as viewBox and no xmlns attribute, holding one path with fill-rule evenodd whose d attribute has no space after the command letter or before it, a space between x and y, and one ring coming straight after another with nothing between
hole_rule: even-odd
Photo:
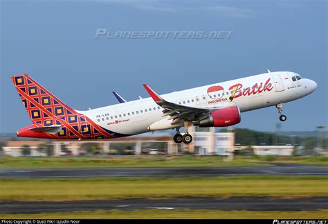
<instances>
[{"instance_id":1,"label":"farthest thin grass strip, just below the airport buildings","mask_svg":"<svg viewBox=\"0 0 328 224\"><path fill-rule=\"evenodd\" d=\"M266 162L267 164L264 164ZM328 157L181 157L165 156L113 156L113 157L0 157L0 168L86 168L122 166L269 166L270 162L328 165Z\"/></svg>"}]
</instances>

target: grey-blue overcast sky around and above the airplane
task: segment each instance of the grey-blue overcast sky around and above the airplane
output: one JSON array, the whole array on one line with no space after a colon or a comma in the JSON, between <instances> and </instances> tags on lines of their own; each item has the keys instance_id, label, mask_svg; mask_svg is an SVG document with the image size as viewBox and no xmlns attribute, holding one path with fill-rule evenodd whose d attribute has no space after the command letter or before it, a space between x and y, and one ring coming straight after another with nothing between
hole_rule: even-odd
<instances>
[{"instance_id":1,"label":"grey-blue overcast sky around and above the airplane","mask_svg":"<svg viewBox=\"0 0 328 224\"><path fill-rule=\"evenodd\" d=\"M1 1L1 0L0 0ZM10 76L29 74L77 110L271 71L318 83L283 107L282 130L327 126L327 1L1 1L0 132L31 124ZM95 39L119 31L232 31L222 39ZM237 127L274 131L275 107Z\"/></svg>"}]
</instances>

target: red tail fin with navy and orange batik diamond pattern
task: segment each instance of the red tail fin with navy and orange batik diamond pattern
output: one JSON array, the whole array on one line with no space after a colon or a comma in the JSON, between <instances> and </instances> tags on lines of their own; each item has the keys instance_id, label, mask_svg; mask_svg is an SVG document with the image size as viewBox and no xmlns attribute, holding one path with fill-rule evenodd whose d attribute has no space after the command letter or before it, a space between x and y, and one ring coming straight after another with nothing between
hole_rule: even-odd
<instances>
[{"instance_id":1,"label":"red tail fin with navy and orange batik diamond pattern","mask_svg":"<svg viewBox=\"0 0 328 224\"><path fill-rule=\"evenodd\" d=\"M109 130L98 126L84 114L78 113L53 96L26 74L12 76L21 101L36 127L60 125L56 134L47 133L55 139L104 139L115 137ZM114 134L115 135L115 134Z\"/></svg>"}]
</instances>

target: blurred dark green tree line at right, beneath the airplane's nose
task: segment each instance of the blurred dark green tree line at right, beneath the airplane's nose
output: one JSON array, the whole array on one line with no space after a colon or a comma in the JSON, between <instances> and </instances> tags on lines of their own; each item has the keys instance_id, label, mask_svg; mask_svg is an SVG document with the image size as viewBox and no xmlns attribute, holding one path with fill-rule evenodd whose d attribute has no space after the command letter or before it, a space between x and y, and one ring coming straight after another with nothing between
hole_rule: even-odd
<instances>
[{"instance_id":1,"label":"blurred dark green tree line at right, beneath the airplane's nose","mask_svg":"<svg viewBox=\"0 0 328 224\"><path fill-rule=\"evenodd\" d=\"M227 128L222 128L219 132L229 131ZM304 146L304 148L318 147L318 137L277 135L276 133L259 132L247 128L235 128L232 132L235 133L235 144L240 144L242 146L273 146L291 144L295 146ZM320 137L319 142L322 148L328 148L327 137Z\"/></svg>"}]
</instances>

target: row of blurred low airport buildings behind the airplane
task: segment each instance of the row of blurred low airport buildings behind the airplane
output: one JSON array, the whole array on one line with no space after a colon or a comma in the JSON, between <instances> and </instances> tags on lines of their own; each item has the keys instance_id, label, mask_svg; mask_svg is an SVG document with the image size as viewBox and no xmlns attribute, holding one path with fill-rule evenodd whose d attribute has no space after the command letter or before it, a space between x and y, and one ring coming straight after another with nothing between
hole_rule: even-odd
<instances>
[{"instance_id":1,"label":"row of blurred low airport buildings behind the airplane","mask_svg":"<svg viewBox=\"0 0 328 224\"><path fill-rule=\"evenodd\" d=\"M163 135L164 134L164 135ZM194 141L175 144L172 133L158 132L100 141L8 141L3 155L64 156L64 155L230 155L246 146L235 146L235 133L215 132L215 128L190 128ZM95 152L87 152L85 144L93 144ZM28 146L29 153L24 153ZM45 147L47 146L47 147ZM120 150L117 150L120 146ZM123 147L123 148L122 148ZM125 147L125 148L124 148ZM294 146L252 146L255 155L292 155Z\"/></svg>"}]
</instances>

